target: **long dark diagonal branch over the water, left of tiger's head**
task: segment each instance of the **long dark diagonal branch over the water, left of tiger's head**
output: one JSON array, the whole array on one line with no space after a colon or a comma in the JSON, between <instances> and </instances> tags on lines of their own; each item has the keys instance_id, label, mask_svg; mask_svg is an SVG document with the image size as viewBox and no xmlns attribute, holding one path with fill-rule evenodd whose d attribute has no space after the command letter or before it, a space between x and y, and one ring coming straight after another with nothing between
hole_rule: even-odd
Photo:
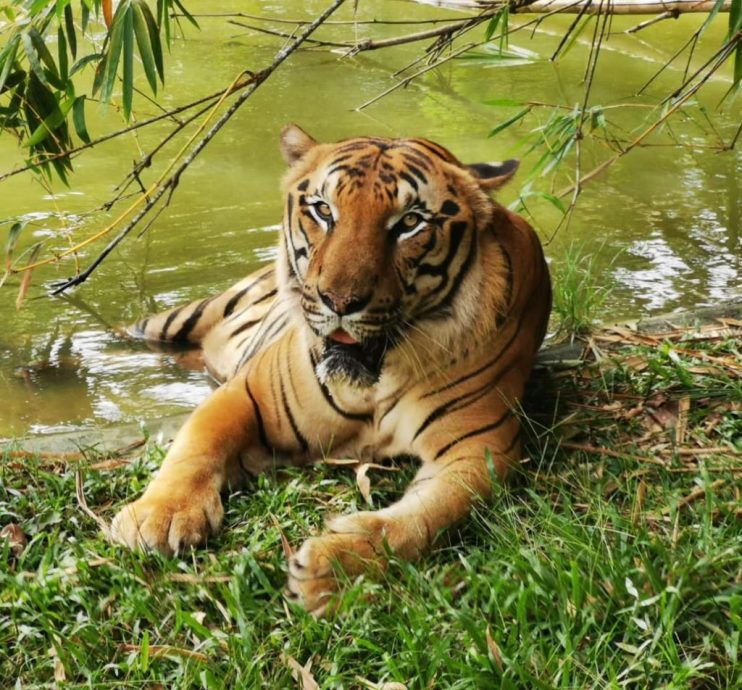
<instances>
[{"instance_id":1,"label":"long dark diagonal branch over the water, left of tiger's head","mask_svg":"<svg viewBox=\"0 0 742 690\"><path fill-rule=\"evenodd\" d=\"M261 72L254 75L248 88L243 91L237 100L227 109L227 111L212 125L211 129L206 135L194 146L191 152L185 157L180 166L175 172L165 180L161 186L154 191L154 193L148 198L147 203L142 207L139 213L132 218L129 224L119 232L116 237L111 240L101 254L79 275L74 278L70 278L61 285L57 286L52 294L58 295L68 290L71 287L84 283L100 263L108 256L120 243L121 241L139 224L144 216L152 209L152 207L162 198L163 194L170 190L171 194L178 185L180 176L188 168L188 166L194 161L206 145L216 136L219 130L231 119L231 117L237 112L245 101L258 89L258 87L270 77L278 67L300 46L306 41L309 36L329 17L345 0L334 0L334 2L320 14L297 38L289 45L282 48L274 58L273 62Z\"/></svg>"}]
</instances>

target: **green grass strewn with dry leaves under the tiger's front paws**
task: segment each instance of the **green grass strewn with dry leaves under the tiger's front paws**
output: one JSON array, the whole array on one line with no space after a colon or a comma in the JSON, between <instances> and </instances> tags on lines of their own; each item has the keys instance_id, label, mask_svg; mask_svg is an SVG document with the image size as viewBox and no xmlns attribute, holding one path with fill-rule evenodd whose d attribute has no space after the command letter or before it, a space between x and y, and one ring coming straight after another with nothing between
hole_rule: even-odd
<instances>
[{"instance_id":1,"label":"green grass strewn with dry leaves under the tiger's front paws","mask_svg":"<svg viewBox=\"0 0 742 690\"><path fill-rule=\"evenodd\" d=\"M737 342L675 339L559 374L566 418L531 426L516 481L423 561L349 583L329 621L284 602L281 531L298 545L362 507L347 469L265 475L230 497L208 549L164 559L110 546L75 499L80 469L110 519L155 445L113 469L6 456L2 524L29 543L0 554L0 687L55 673L63 687L301 687L291 657L322 688L742 688ZM370 473L375 503L413 471Z\"/></svg>"}]
</instances>

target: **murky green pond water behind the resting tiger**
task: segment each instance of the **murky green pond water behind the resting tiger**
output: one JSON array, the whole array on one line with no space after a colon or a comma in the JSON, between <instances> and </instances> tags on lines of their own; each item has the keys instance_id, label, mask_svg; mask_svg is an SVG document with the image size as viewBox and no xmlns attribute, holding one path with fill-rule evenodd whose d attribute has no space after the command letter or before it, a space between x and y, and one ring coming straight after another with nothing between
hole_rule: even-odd
<instances>
[{"instance_id":1,"label":"murky green pond water behind the resting tiger","mask_svg":"<svg viewBox=\"0 0 742 690\"><path fill-rule=\"evenodd\" d=\"M199 9L205 4L199 4ZM309 17L325 6L313 1L285 9L289 4L235 0L219 3L219 11L234 8ZM352 3L348 5L336 18L352 18ZM361 0L357 14L359 19L423 16L457 15L381 0ZM628 36L622 30L639 20L614 19L591 102L630 101L701 20L681 18ZM361 112L353 108L392 84L391 73L413 59L418 47L369 52L353 59L327 51L295 54L191 166L171 206L150 230L123 243L88 283L66 298L46 295L45 284L73 272L73 264L67 261L34 274L29 299L20 311L14 304L18 281L10 281L0 291L0 437L153 419L191 409L209 391L205 375L182 367L174 355L117 336L113 328L144 313L221 290L273 256L275 224L281 214L278 182L284 167L277 148L281 126L295 121L320 139L370 133L422 135L468 162L521 155L516 143L534 121L487 139L489 130L514 111L496 110L483 101L515 98L569 105L581 101L589 32L559 63L546 59L570 22L571 18L554 18L545 21L533 37L527 31L514 35L513 45L532 51L528 60L508 66L450 61ZM264 67L282 43L230 26L224 19L205 18L201 23L202 31L187 30L187 40L176 41L168 57L167 85L160 96L166 107L230 83L243 68ZM726 18L718 18L707 31L708 47L699 52L697 64L720 45L725 26ZM357 28L359 37L402 31L399 26ZM348 28L326 28L323 35L347 40ZM481 30L472 36L481 38ZM679 63L663 74L653 92L666 93L677 85L683 67ZM708 85L703 102L709 108L728 88L730 71L726 69ZM157 112L154 105L141 100L139 104L136 112L141 119ZM628 128L637 126L642 116L619 110L615 117ZM715 117L726 140L738 120L739 110ZM122 122L115 109L93 106L88 125L96 136L119 128ZM50 246L62 249L69 241L65 228L71 239L87 237L114 217L91 211L113 195L132 161L170 127L158 125L138 137L129 135L89 151L76 161L71 189L58 185L53 195L28 175L0 183L0 219L30 219L27 243L47 238ZM607 319L713 303L739 290L739 149L722 155L703 148L701 144L708 142L693 120L678 122L672 134L686 146L636 151L588 185L571 226L547 247L550 259L557 262L574 240L598 255L602 275L616 283ZM156 160L155 170L174 151L166 150ZM588 148L584 169L604 155ZM0 138L0 171L21 161L15 142ZM533 160L526 157L524 170L529 163ZM146 179L154 179L149 175ZM557 187L566 181L567 171ZM516 179L501 200L513 201L521 183ZM114 213L122 209L116 207ZM548 204L535 204L532 210L534 224L547 238L556 211ZM0 226L2 241L8 227ZM101 247L82 252L82 265Z\"/></svg>"}]
</instances>

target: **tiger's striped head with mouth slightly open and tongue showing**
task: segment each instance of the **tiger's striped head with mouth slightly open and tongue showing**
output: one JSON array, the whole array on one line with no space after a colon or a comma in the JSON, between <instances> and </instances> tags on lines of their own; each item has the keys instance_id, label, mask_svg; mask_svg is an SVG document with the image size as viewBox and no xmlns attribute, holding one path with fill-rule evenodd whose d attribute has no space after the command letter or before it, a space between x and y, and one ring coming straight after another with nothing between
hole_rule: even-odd
<instances>
[{"instance_id":1,"label":"tiger's striped head with mouth slightly open and tongue showing","mask_svg":"<svg viewBox=\"0 0 742 690\"><path fill-rule=\"evenodd\" d=\"M489 192L517 161L464 165L426 139L321 144L296 125L281 149L279 266L319 341L321 379L373 385L406 338L460 335L481 316Z\"/></svg>"}]
</instances>

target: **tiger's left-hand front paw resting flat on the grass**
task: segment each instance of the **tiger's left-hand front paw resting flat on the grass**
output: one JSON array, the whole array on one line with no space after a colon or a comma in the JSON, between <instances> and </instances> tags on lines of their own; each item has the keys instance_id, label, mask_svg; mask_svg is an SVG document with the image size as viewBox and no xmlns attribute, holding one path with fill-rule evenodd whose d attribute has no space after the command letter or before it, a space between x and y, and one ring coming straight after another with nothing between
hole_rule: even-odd
<instances>
[{"instance_id":1,"label":"tiger's left-hand front paw resting flat on the grass","mask_svg":"<svg viewBox=\"0 0 742 690\"><path fill-rule=\"evenodd\" d=\"M150 488L122 508L111 523L111 538L130 549L166 556L197 546L216 532L224 516L219 492L199 486Z\"/></svg>"}]
</instances>

